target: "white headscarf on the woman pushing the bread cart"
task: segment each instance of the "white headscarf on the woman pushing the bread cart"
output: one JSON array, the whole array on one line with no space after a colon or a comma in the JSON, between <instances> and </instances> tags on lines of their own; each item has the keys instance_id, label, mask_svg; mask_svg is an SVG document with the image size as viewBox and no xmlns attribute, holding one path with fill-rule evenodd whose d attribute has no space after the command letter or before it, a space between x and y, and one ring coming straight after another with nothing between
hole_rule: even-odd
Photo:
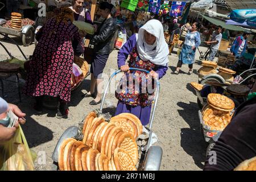
<instances>
[{"instance_id":1,"label":"white headscarf on the woman pushing the bread cart","mask_svg":"<svg viewBox=\"0 0 256 182\"><path fill-rule=\"evenodd\" d=\"M145 31L156 37L156 41L153 45L149 45L145 42ZM162 23L160 23L159 20L149 20L144 26L139 28L139 34L136 34L136 38L139 57L141 57L143 61L149 60L151 63L162 66L168 63L169 48L164 39Z\"/></svg>"}]
</instances>

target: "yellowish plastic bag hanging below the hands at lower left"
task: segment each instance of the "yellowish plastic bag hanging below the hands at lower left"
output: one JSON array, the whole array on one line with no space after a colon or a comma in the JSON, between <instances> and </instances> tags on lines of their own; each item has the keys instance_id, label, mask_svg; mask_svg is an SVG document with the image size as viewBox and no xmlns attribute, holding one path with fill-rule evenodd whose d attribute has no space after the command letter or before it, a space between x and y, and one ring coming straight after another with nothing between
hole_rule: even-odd
<instances>
[{"instance_id":1,"label":"yellowish plastic bag hanging below the hands at lower left","mask_svg":"<svg viewBox=\"0 0 256 182\"><path fill-rule=\"evenodd\" d=\"M1 171L34 171L33 158L22 128L12 139L0 144Z\"/></svg>"}]
</instances>

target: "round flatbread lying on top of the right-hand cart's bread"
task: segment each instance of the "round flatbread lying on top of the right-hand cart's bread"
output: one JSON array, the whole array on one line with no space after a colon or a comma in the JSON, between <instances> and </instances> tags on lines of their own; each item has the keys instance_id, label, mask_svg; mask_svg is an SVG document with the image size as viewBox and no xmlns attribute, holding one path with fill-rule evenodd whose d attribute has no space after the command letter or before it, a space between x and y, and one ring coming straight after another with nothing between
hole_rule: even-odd
<instances>
[{"instance_id":1,"label":"round flatbread lying on top of the right-hand cart's bread","mask_svg":"<svg viewBox=\"0 0 256 182\"><path fill-rule=\"evenodd\" d=\"M218 107L225 110L233 110L234 109L234 102L226 97L222 96L218 93L210 93L207 97L207 102L209 105L212 105L214 108Z\"/></svg>"}]
</instances>

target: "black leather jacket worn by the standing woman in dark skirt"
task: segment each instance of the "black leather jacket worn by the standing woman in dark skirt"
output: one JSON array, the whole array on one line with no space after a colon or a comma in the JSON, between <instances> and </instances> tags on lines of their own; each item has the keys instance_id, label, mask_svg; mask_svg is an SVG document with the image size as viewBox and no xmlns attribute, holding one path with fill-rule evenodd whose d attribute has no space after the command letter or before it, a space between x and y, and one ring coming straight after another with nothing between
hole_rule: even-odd
<instances>
[{"instance_id":1,"label":"black leather jacket worn by the standing woman in dark skirt","mask_svg":"<svg viewBox=\"0 0 256 182\"><path fill-rule=\"evenodd\" d=\"M92 44L94 45L94 53L109 54L110 42L115 32L114 18L105 19L98 27L98 31L93 36Z\"/></svg>"}]
</instances>

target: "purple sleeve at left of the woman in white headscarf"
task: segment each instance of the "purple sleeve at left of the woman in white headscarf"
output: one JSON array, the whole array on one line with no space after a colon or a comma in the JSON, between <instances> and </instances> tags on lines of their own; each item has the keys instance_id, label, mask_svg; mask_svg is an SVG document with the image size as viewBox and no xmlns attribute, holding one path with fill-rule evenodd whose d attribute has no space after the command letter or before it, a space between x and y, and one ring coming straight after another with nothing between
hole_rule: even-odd
<instances>
[{"instance_id":1,"label":"purple sleeve at left of the woman in white headscarf","mask_svg":"<svg viewBox=\"0 0 256 182\"><path fill-rule=\"evenodd\" d=\"M117 55L117 64L118 68L120 68L122 65L125 65L125 61L131 51L133 51L133 48L136 46L137 40L136 35L132 35L129 40L125 44L123 44L123 47L118 51Z\"/></svg>"}]
</instances>

